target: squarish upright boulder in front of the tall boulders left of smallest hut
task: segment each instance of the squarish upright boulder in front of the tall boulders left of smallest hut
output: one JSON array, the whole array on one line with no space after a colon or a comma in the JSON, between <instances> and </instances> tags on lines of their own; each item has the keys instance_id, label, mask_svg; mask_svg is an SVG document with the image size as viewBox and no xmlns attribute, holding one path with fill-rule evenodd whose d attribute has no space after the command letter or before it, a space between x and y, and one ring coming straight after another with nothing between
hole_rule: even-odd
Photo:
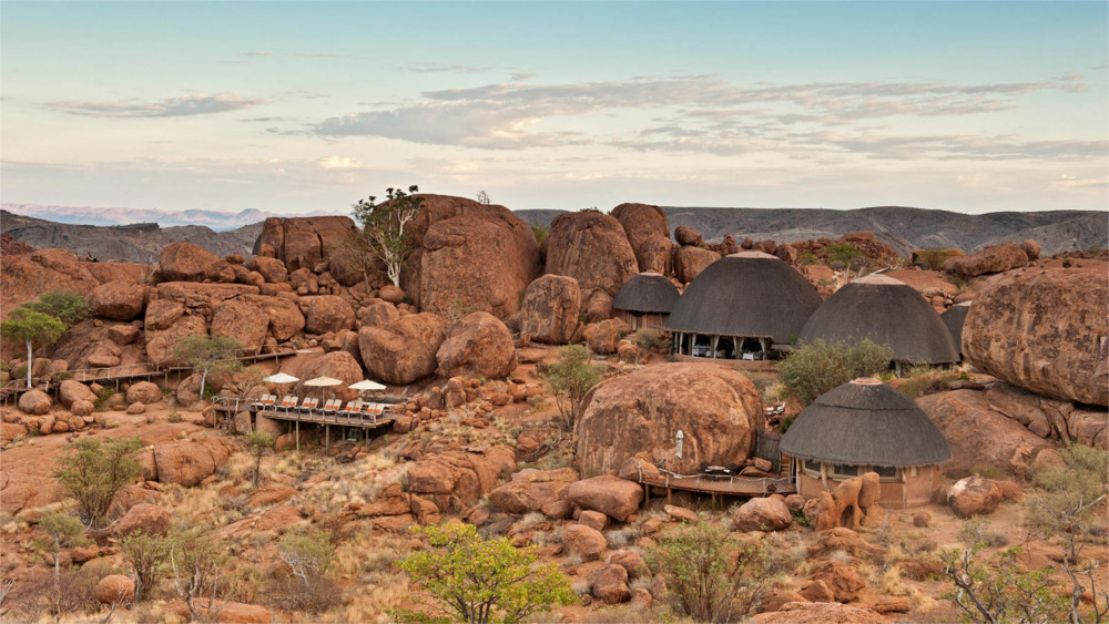
<instances>
[{"instance_id":1,"label":"squarish upright boulder in front of the tall boulders left of smallest hut","mask_svg":"<svg viewBox=\"0 0 1109 624\"><path fill-rule=\"evenodd\" d=\"M578 280L563 275L545 275L528 285L518 315L520 334L537 342L566 345L578 329L581 290Z\"/></svg>"}]
</instances>

